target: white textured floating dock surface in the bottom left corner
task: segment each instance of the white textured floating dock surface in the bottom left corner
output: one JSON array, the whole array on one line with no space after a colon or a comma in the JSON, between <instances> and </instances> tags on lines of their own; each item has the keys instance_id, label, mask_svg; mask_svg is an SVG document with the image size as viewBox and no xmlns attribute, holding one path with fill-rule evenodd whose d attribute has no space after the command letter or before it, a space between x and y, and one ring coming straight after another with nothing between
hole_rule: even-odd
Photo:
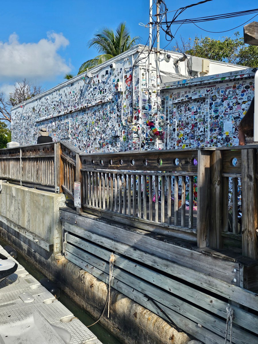
<instances>
[{"instance_id":1,"label":"white textured floating dock surface in the bottom left corner","mask_svg":"<svg viewBox=\"0 0 258 344\"><path fill-rule=\"evenodd\" d=\"M0 252L14 260L1 246ZM21 334L23 331L25 336L33 324L33 331L38 331L39 336L46 334L45 343L49 343L47 334L51 333L52 339L59 338L56 343L101 344L79 319L17 264L17 271L0 282L0 343L18 343L19 333L15 331ZM26 322L28 326L23 325Z\"/></svg>"}]
</instances>

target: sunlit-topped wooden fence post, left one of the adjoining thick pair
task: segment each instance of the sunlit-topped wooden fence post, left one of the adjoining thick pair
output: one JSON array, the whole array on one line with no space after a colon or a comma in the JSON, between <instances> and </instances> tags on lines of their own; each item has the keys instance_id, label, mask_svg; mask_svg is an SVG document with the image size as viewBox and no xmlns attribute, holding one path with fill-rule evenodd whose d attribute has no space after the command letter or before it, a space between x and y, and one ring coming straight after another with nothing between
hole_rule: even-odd
<instances>
[{"instance_id":1,"label":"sunlit-topped wooden fence post, left one of the adjoining thick pair","mask_svg":"<svg viewBox=\"0 0 258 344\"><path fill-rule=\"evenodd\" d=\"M209 246L210 151L198 151L197 245Z\"/></svg>"}]
</instances>

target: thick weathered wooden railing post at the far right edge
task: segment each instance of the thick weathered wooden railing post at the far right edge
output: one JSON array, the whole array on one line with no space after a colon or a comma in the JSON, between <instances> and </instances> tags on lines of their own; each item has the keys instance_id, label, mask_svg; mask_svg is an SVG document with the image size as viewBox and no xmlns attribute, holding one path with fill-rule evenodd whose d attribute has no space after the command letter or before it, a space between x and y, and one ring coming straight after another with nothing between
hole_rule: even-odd
<instances>
[{"instance_id":1,"label":"thick weathered wooden railing post at the far right edge","mask_svg":"<svg viewBox=\"0 0 258 344\"><path fill-rule=\"evenodd\" d=\"M257 184L254 149L241 151L242 159L242 248L243 256L258 258L257 247Z\"/></svg>"}]
</instances>

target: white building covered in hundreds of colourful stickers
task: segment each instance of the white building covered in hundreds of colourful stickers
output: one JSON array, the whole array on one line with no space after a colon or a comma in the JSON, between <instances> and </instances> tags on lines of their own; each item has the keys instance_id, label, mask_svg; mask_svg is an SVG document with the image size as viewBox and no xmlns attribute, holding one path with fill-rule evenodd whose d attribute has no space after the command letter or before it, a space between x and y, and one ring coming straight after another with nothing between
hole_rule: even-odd
<instances>
[{"instance_id":1,"label":"white building covered in hundreds of colourful stickers","mask_svg":"<svg viewBox=\"0 0 258 344\"><path fill-rule=\"evenodd\" d=\"M91 153L236 145L255 71L137 45L13 107L12 140L45 127Z\"/></svg>"}]
</instances>

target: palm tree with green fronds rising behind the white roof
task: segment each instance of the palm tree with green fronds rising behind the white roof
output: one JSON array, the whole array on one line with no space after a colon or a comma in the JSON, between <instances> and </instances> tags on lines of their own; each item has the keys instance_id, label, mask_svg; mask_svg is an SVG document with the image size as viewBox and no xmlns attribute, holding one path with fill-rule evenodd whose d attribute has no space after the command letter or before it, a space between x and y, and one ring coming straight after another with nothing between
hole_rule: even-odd
<instances>
[{"instance_id":1,"label":"palm tree with green fronds rising behind the white roof","mask_svg":"<svg viewBox=\"0 0 258 344\"><path fill-rule=\"evenodd\" d=\"M139 36L131 39L130 30L126 22L121 22L115 32L107 27L101 28L88 42L88 47L94 46L100 55L84 62L80 66L78 74L84 73L87 69L96 67L110 60L110 58L127 51L137 44L139 40ZM71 79L71 77L73 77L71 74L66 74L65 79Z\"/></svg>"}]
</instances>

